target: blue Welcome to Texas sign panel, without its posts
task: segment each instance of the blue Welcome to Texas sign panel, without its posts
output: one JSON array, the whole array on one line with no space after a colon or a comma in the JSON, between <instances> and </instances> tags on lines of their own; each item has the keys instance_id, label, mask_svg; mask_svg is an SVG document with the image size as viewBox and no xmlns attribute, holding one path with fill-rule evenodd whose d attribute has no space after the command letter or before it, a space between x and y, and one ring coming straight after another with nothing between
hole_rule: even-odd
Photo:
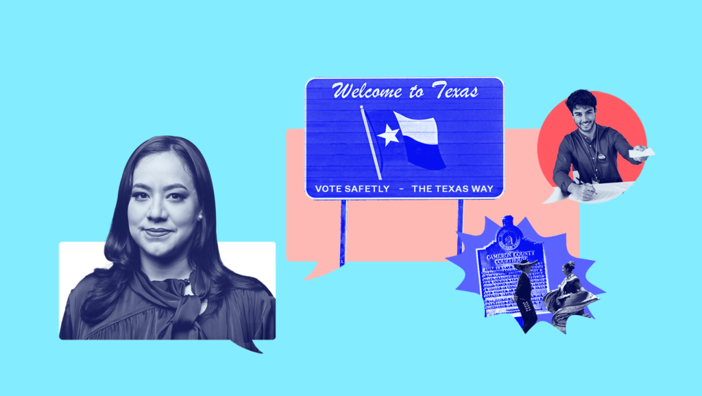
<instances>
[{"instance_id":1,"label":"blue Welcome to Texas sign panel, without its posts","mask_svg":"<svg viewBox=\"0 0 702 396\"><path fill-rule=\"evenodd\" d=\"M504 97L497 77L310 79L305 192L319 200L498 198Z\"/></svg>"}]
</instances>

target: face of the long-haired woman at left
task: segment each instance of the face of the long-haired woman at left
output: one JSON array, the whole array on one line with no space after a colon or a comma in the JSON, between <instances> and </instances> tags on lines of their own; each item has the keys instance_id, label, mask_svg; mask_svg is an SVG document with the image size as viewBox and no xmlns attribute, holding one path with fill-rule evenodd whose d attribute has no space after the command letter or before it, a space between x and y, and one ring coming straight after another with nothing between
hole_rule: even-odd
<instances>
[{"instance_id":1,"label":"face of the long-haired woman at left","mask_svg":"<svg viewBox=\"0 0 702 396\"><path fill-rule=\"evenodd\" d=\"M187 255L202 210L192 177L174 153L142 158L134 170L127 217L142 253Z\"/></svg>"}]
</instances>

